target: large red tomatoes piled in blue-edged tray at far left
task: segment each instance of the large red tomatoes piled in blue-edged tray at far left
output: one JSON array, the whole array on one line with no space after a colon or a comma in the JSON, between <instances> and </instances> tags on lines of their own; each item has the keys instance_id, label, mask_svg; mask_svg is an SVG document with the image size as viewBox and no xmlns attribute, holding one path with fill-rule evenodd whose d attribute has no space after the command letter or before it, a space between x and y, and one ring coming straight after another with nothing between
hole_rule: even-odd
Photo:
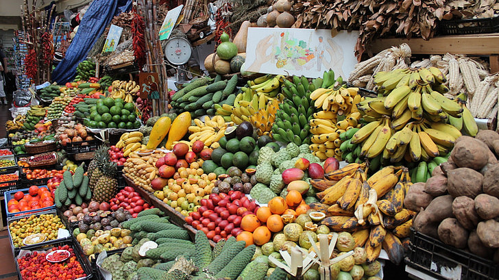
<instances>
[{"instance_id":1,"label":"large red tomatoes piled in blue-edged tray at far left","mask_svg":"<svg viewBox=\"0 0 499 280\"><path fill-rule=\"evenodd\" d=\"M52 205L53 198L47 187L31 186L27 194L22 191L16 192L12 199L7 202L7 209L9 213L17 213L50 207Z\"/></svg>"}]
</instances>

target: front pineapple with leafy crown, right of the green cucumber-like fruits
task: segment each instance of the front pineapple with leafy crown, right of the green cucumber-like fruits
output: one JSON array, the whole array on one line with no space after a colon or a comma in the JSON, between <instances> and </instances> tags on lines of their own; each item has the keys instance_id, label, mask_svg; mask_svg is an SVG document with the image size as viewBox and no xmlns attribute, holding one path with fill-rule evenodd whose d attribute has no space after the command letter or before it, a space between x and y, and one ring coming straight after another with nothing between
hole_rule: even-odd
<instances>
[{"instance_id":1,"label":"front pineapple with leafy crown, right of the green cucumber-like fruits","mask_svg":"<svg viewBox=\"0 0 499 280\"><path fill-rule=\"evenodd\" d=\"M110 201L117 193L118 180L114 179L117 172L116 162L107 160L101 168L101 177L97 180L93 190L93 199L98 203ZM93 173L95 175L96 171Z\"/></svg>"}]
</instances>

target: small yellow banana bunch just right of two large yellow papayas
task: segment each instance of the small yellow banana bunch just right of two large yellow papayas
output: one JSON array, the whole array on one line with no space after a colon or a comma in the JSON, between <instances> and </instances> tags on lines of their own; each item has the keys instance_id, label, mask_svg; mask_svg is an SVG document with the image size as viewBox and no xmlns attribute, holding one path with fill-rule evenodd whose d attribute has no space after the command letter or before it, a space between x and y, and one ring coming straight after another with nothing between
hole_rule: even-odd
<instances>
[{"instance_id":1,"label":"small yellow banana bunch just right of two large yellow papayas","mask_svg":"<svg viewBox=\"0 0 499 280\"><path fill-rule=\"evenodd\" d=\"M189 136L190 142L188 142L189 147L192 147L195 141L200 140L207 147L212 147L212 149L219 147L218 142L223 137L227 127L234 125L232 122L226 122L221 116L214 116L213 118L205 116L204 122L195 118L194 123L195 125L188 128L189 133L191 133Z\"/></svg>"}]
</instances>

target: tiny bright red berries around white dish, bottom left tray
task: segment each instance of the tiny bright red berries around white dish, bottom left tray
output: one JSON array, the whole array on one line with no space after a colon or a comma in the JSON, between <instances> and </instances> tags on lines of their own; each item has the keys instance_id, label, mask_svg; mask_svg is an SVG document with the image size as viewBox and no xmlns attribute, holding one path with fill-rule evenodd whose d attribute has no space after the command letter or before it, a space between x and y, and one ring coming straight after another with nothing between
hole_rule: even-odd
<instances>
[{"instance_id":1,"label":"tiny bright red berries around white dish, bottom left tray","mask_svg":"<svg viewBox=\"0 0 499 280\"><path fill-rule=\"evenodd\" d=\"M47 254L56 250L69 251L69 259L58 263L47 261ZM86 277L82 264L68 245L54 247L46 253L34 251L20 257L17 262L22 279L73 280Z\"/></svg>"}]
</instances>

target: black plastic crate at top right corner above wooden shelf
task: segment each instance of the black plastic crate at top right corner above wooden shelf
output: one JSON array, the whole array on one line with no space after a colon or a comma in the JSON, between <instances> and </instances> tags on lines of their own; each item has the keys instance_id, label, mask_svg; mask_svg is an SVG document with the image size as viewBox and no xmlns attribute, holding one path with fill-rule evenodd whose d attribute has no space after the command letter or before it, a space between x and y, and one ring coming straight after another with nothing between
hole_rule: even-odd
<instances>
[{"instance_id":1,"label":"black plastic crate at top right corner above wooden shelf","mask_svg":"<svg viewBox=\"0 0 499 280\"><path fill-rule=\"evenodd\" d=\"M439 35L487 34L499 31L499 16L494 18L467 18L456 21L440 21Z\"/></svg>"}]
</instances>

